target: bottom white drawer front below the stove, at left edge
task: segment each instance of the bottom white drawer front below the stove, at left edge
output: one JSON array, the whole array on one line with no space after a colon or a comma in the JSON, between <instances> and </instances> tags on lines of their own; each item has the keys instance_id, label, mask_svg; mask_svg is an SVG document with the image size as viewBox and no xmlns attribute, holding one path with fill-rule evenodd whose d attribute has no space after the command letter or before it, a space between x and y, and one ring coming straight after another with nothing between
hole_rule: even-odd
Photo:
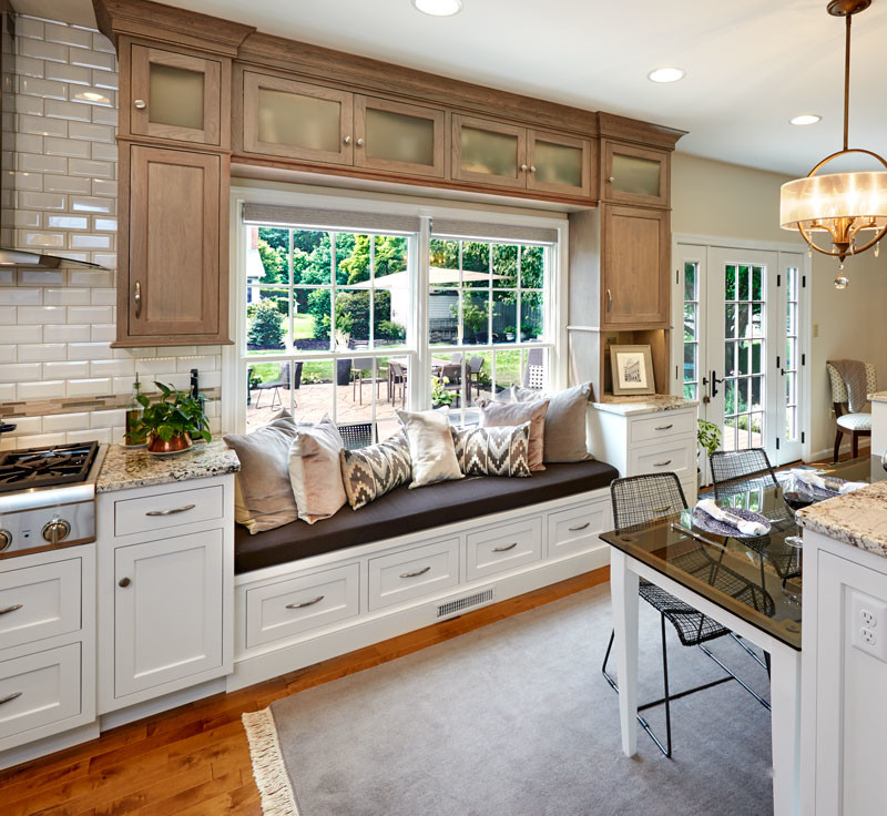
<instances>
[{"instance_id":1,"label":"bottom white drawer front below the stove, at left edge","mask_svg":"<svg viewBox=\"0 0 887 816\"><path fill-rule=\"evenodd\" d=\"M80 643L0 663L0 740L78 714Z\"/></svg>"}]
</instances>

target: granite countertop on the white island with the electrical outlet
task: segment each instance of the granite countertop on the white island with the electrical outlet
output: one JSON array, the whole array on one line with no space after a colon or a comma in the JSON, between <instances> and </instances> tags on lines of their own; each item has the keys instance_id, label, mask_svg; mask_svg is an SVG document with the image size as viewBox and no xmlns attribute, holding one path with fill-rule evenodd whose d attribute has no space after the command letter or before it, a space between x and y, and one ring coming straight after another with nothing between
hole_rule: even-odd
<instances>
[{"instance_id":1,"label":"granite countertop on the white island with the electrical outlet","mask_svg":"<svg viewBox=\"0 0 887 816\"><path fill-rule=\"evenodd\" d=\"M797 523L887 558L887 481L798 510Z\"/></svg>"}]
</instances>

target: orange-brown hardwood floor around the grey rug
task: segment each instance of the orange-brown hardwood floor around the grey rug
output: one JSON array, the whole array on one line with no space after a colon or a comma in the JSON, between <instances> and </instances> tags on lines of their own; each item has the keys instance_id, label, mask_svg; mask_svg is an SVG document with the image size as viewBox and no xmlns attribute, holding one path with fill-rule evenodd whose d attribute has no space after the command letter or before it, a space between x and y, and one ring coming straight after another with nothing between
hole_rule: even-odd
<instances>
[{"instance_id":1,"label":"orange-brown hardwood floor around the grey rug","mask_svg":"<svg viewBox=\"0 0 887 816\"><path fill-rule=\"evenodd\" d=\"M241 714L609 579L608 567L0 772L2 816L262 816Z\"/></svg>"}]
</instances>

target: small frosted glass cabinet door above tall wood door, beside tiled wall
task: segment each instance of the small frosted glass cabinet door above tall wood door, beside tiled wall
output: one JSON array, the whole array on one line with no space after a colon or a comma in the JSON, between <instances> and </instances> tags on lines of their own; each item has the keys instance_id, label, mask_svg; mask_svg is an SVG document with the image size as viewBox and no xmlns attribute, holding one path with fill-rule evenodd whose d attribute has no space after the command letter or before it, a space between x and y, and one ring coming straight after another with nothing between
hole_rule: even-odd
<instances>
[{"instance_id":1,"label":"small frosted glass cabinet door above tall wood door, beside tiled wall","mask_svg":"<svg viewBox=\"0 0 887 816\"><path fill-rule=\"evenodd\" d=\"M218 60L133 45L131 71L133 134L221 145Z\"/></svg>"}]
</instances>

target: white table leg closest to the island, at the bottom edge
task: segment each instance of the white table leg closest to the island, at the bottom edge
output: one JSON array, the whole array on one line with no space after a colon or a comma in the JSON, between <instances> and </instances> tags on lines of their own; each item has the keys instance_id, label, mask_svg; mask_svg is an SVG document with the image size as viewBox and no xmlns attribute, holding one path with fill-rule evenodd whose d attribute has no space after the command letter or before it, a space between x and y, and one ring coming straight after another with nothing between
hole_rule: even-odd
<instances>
[{"instance_id":1,"label":"white table leg closest to the island, at the bottom edge","mask_svg":"<svg viewBox=\"0 0 887 816\"><path fill-rule=\"evenodd\" d=\"M801 813L801 652L771 653L773 814Z\"/></svg>"}]
</instances>

